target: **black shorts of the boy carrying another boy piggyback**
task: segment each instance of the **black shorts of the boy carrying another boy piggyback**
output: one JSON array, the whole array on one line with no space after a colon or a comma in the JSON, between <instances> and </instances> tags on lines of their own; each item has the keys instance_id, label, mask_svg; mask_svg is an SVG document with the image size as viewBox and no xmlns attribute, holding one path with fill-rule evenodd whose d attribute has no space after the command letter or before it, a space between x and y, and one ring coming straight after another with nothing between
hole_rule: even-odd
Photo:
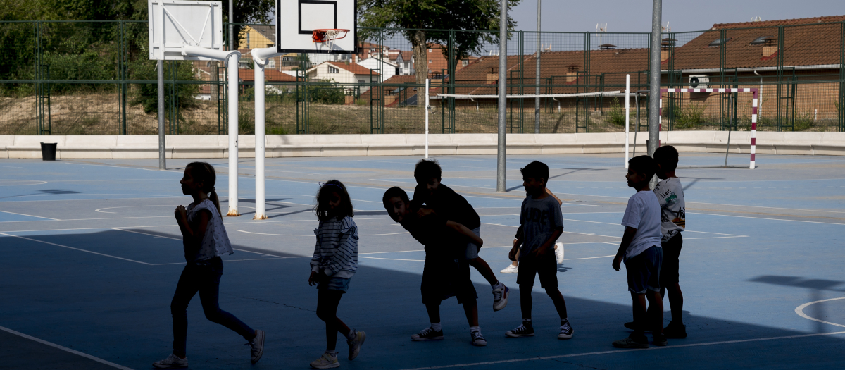
<instances>
[{"instance_id":1,"label":"black shorts of the boy carrying another boy piggyback","mask_svg":"<svg viewBox=\"0 0 845 370\"><path fill-rule=\"evenodd\" d=\"M420 284L423 304L437 303L457 297L458 303L478 298L470 280L470 267L463 258L443 258L426 253L423 282Z\"/></svg>"}]
</instances>

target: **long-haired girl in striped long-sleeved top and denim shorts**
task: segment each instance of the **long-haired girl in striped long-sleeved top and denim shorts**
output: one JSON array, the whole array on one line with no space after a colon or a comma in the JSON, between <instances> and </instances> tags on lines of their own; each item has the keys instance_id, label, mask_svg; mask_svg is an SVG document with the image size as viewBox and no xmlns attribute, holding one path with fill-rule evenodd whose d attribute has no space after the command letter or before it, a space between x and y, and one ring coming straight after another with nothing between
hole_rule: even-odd
<instances>
[{"instance_id":1,"label":"long-haired girl in striped long-sleeved top and denim shorts","mask_svg":"<svg viewBox=\"0 0 845 370\"><path fill-rule=\"evenodd\" d=\"M358 268L358 227L352 220L352 200L342 182L330 180L320 185L314 208L319 219L319 226L314 229L317 244L308 285L317 286L317 317L325 322L326 350L311 362L311 367L332 368L341 366L335 351L338 332L346 335L350 360L358 356L367 335L349 329L337 318L341 296L349 290L349 280Z\"/></svg>"}]
</instances>

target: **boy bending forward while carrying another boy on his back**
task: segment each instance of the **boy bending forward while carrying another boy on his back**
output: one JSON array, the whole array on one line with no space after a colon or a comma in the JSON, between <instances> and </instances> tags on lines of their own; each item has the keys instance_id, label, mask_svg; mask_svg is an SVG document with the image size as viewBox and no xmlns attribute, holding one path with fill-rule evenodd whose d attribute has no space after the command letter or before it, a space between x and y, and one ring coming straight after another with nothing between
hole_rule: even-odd
<instances>
[{"instance_id":1,"label":"boy bending forward while carrying another boy on his back","mask_svg":"<svg viewBox=\"0 0 845 370\"><path fill-rule=\"evenodd\" d=\"M466 243L482 245L482 240L466 226L435 213L418 215L413 208L408 194L401 188L390 188L382 197L384 209L390 218L411 233L417 242L425 246L425 265L420 291L423 304L428 311L431 325L412 335L412 340L442 340L443 329L440 324L440 302L449 297L456 297L463 304L464 313L470 325L470 338L473 346L487 346L487 340L481 335L478 326L478 304L475 286L470 280L469 265L464 254Z\"/></svg>"}]
</instances>

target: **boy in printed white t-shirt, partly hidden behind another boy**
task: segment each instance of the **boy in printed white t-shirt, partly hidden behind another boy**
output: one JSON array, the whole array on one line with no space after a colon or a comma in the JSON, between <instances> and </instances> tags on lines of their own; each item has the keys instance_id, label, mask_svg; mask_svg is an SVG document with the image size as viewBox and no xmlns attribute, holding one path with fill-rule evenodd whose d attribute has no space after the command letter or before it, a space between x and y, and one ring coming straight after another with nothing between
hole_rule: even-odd
<instances>
[{"instance_id":1,"label":"boy in printed white t-shirt, partly hidden behind another boy","mask_svg":"<svg viewBox=\"0 0 845 370\"><path fill-rule=\"evenodd\" d=\"M661 296L664 289L669 296L669 307L672 308L672 321L663 329L667 338L686 338L686 326L684 326L684 295L679 286L679 256L684 239L681 231L686 227L686 204L684 202L684 187L681 181L675 176L675 169L678 168L678 150L673 146L665 145L654 151L654 161L657 161L657 182L654 194L660 202L662 234L661 244L663 248L663 264L660 269Z\"/></svg>"}]
</instances>

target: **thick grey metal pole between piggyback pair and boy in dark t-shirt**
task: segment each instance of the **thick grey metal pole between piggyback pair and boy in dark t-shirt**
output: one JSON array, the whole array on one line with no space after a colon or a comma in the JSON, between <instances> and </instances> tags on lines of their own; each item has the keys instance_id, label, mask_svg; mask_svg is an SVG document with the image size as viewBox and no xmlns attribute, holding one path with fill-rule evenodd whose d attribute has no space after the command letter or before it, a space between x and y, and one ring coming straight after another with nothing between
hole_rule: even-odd
<instances>
[{"instance_id":1,"label":"thick grey metal pole between piggyback pair and boy in dark t-shirt","mask_svg":"<svg viewBox=\"0 0 845 370\"><path fill-rule=\"evenodd\" d=\"M496 191L504 193L505 161L507 161L505 155L507 131L504 121L508 96L508 91L505 89L508 83L508 0L499 0L499 3L501 3L499 10L499 144L496 151Z\"/></svg>"}]
</instances>

